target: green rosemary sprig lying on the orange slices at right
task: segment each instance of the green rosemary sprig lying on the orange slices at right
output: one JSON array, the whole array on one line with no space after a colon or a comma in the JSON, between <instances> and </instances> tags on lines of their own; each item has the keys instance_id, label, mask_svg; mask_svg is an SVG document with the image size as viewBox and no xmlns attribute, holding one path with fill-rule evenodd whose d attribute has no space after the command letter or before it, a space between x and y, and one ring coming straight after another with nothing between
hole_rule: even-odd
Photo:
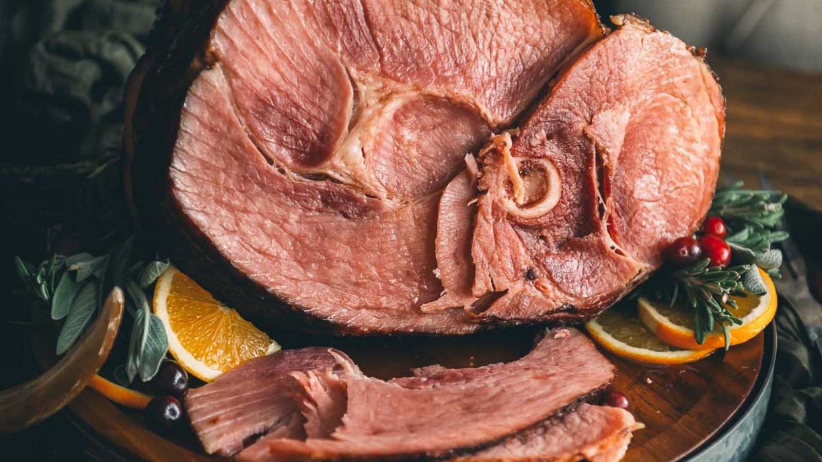
<instances>
[{"instance_id":1,"label":"green rosemary sprig lying on the orange slices at right","mask_svg":"<svg viewBox=\"0 0 822 462\"><path fill-rule=\"evenodd\" d=\"M728 327L742 321L728 310L737 308L729 295L744 295L742 275L749 266L722 268L709 266L710 259L681 270L663 272L644 285L644 295L673 307L689 307L694 312L694 338L703 344L706 335L720 326L725 337L725 349L730 347Z\"/></svg>"}]
</instances>

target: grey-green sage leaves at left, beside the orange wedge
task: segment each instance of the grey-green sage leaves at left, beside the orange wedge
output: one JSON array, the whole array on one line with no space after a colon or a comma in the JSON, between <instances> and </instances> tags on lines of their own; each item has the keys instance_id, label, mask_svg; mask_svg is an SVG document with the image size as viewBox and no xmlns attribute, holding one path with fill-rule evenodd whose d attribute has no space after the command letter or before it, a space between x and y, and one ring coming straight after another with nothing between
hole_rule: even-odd
<instances>
[{"instance_id":1,"label":"grey-green sage leaves at left, beside the orange wedge","mask_svg":"<svg viewBox=\"0 0 822 462\"><path fill-rule=\"evenodd\" d=\"M154 284L169 262L146 264L134 252L133 243L134 239L128 238L103 256L54 255L39 266L16 257L15 263L23 284L49 304L52 319L65 320L58 335L57 354L66 353L75 344L109 292L115 286L122 287L128 294L126 310L133 321L125 367L128 381L137 375L148 381L157 373L169 342L163 322L150 310L144 289Z\"/></svg>"}]
</instances>

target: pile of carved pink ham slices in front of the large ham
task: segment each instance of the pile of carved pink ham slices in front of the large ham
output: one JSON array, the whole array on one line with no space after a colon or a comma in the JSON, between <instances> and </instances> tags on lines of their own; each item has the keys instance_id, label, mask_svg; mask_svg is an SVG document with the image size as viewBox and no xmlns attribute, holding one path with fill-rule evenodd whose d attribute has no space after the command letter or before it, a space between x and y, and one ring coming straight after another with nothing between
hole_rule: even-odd
<instances>
[{"instance_id":1,"label":"pile of carved pink ham slices in front of the large ham","mask_svg":"<svg viewBox=\"0 0 822 462\"><path fill-rule=\"evenodd\" d=\"M621 457L630 432L641 427L621 409L576 407L613 380L613 366L578 330L549 330L511 363L429 366L390 381L367 377L339 351L320 352L258 358L192 390L187 410L205 449L233 454L247 446L238 460L248 461L451 454L574 460L608 451ZM335 367L328 366L330 357ZM283 424L263 428L240 417L266 413L269 422ZM228 445L225 432L232 435ZM260 434L256 442L249 438Z\"/></svg>"}]
</instances>

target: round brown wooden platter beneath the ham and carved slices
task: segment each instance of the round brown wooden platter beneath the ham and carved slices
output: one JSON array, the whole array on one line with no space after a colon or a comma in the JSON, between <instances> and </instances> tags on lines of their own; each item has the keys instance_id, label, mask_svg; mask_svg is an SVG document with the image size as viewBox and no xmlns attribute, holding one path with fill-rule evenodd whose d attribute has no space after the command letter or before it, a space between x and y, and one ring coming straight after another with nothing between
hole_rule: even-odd
<instances>
[{"instance_id":1,"label":"round brown wooden platter beneath the ham and carved slices","mask_svg":"<svg viewBox=\"0 0 822 462\"><path fill-rule=\"evenodd\" d=\"M35 363L54 361L53 332L32 336ZM328 345L343 349L363 371L381 378L407 375L413 367L439 363L477 367L526 353L536 328L496 330L457 338L326 338L273 333L284 348ZM773 367L773 327L746 344L686 366L658 367L611 357L617 365L614 390L625 393L630 411L645 428L635 432L627 462L688 460L716 441L750 407ZM142 425L141 413L120 408L85 390L64 411L91 438L124 460L220 460L201 452L193 435L169 441Z\"/></svg>"}]
</instances>

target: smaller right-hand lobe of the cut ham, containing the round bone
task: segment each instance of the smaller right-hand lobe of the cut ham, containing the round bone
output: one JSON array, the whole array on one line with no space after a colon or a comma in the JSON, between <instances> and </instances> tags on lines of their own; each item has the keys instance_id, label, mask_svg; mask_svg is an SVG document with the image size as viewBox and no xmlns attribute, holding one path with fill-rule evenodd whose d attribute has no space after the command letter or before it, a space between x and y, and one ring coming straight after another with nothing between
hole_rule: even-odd
<instances>
[{"instance_id":1,"label":"smaller right-hand lobe of the cut ham, containing the round bone","mask_svg":"<svg viewBox=\"0 0 822 462\"><path fill-rule=\"evenodd\" d=\"M521 129L480 151L475 221L438 229L461 236L451 249L470 243L473 297L501 294L473 321L594 316L707 213L725 127L719 86L679 39L634 16L613 20L620 28L558 77ZM462 213L448 208L441 217ZM449 249L437 251L448 267Z\"/></svg>"}]
</instances>

